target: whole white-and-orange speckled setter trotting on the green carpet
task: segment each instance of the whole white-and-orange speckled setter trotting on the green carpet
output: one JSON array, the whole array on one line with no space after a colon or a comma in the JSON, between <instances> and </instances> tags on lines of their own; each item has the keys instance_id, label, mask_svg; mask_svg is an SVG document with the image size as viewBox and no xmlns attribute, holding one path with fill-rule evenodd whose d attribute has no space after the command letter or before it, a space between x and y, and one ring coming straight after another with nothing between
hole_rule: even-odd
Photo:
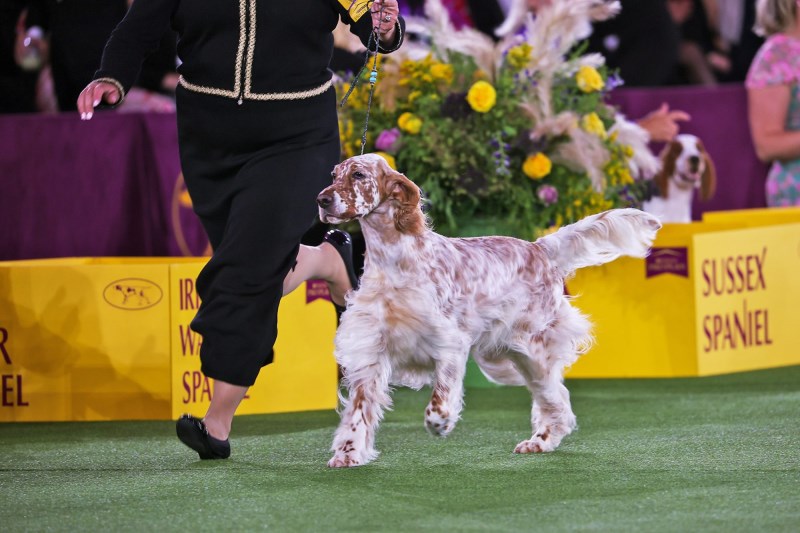
<instances>
[{"instance_id":1,"label":"whole white-and-orange speckled setter trotting on the green carpet","mask_svg":"<svg viewBox=\"0 0 800 533\"><path fill-rule=\"evenodd\" d=\"M419 188L380 156L350 158L333 176L317 197L320 218L358 219L367 253L336 333L348 395L328 466L377 457L375 433L391 407L391 385L431 384L425 427L448 435L463 407L470 353L489 379L531 391L533 434L514 451L554 450L575 428L563 370L592 338L589 320L564 295L564 279L621 255L646 256L659 221L618 209L536 242L448 238L429 227Z\"/></svg>"}]
</instances>

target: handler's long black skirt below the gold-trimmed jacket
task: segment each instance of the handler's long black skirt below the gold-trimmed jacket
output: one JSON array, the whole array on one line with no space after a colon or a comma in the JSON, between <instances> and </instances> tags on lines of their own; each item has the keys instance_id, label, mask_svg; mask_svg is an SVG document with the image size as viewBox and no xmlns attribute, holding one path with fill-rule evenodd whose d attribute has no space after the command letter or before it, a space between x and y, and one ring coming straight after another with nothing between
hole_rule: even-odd
<instances>
[{"instance_id":1,"label":"handler's long black skirt below the gold-trimmed jacket","mask_svg":"<svg viewBox=\"0 0 800 533\"><path fill-rule=\"evenodd\" d=\"M252 385L272 362L283 280L339 162L333 89L238 105L178 87L184 179L214 254L197 278L203 373Z\"/></svg>"}]
</instances>

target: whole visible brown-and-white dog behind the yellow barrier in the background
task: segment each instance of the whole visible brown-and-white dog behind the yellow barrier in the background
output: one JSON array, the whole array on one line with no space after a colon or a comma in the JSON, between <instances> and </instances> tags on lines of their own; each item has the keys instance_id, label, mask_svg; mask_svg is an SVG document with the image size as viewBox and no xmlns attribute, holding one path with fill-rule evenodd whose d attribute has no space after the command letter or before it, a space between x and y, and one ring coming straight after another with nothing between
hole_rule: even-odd
<instances>
[{"instance_id":1,"label":"whole visible brown-and-white dog behind the yellow barrier in the background","mask_svg":"<svg viewBox=\"0 0 800 533\"><path fill-rule=\"evenodd\" d=\"M644 202L642 209L661 222L691 222L695 189L700 189L704 201L716 191L714 162L700 139L681 134L664 147L661 163L661 171L653 178L658 196Z\"/></svg>"}]
</instances>

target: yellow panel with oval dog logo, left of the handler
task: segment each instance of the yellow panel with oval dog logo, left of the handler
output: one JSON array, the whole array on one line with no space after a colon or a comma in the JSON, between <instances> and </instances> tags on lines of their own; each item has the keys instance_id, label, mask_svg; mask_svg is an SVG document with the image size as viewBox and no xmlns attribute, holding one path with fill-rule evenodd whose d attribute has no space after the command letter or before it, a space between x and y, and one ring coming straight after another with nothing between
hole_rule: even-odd
<instances>
[{"instance_id":1,"label":"yellow panel with oval dog logo, left of the handler","mask_svg":"<svg viewBox=\"0 0 800 533\"><path fill-rule=\"evenodd\" d=\"M0 421L164 417L167 274L131 259L0 263Z\"/></svg>"}]
</instances>

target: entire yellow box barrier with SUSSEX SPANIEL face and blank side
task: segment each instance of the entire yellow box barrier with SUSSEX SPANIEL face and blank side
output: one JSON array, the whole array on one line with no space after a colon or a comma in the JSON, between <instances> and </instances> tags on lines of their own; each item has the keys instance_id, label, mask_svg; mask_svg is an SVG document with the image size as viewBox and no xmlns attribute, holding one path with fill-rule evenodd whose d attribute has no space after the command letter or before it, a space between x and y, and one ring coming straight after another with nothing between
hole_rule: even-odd
<instances>
[{"instance_id":1,"label":"entire yellow box barrier with SUSSEX SPANIEL face and blank side","mask_svg":"<svg viewBox=\"0 0 800 533\"><path fill-rule=\"evenodd\" d=\"M595 324L568 377L705 376L800 364L800 209L665 224L650 256L567 282Z\"/></svg>"}]
</instances>

